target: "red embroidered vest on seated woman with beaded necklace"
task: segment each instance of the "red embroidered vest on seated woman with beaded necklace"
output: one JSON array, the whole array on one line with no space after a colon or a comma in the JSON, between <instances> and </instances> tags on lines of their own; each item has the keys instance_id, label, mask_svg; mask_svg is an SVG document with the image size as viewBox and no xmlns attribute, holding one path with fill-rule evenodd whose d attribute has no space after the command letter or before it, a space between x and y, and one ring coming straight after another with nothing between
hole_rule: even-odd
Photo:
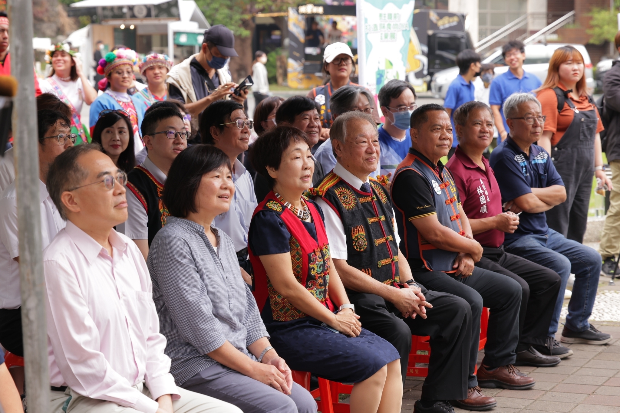
<instances>
[{"instance_id":1,"label":"red embroidered vest on seated woman with beaded necklace","mask_svg":"<svg viewBox=\"0 0 620 413\"><path fill-rule=\"evenodd\" d=\"M329 243L327 243L327 233L325 225L321 219L321 214L316 210L311 202L308 202L308 209L316 228L317 240L312 238L304 224L296 217L293 212L285 208L273 191L267 194L263 202L254 210L254 215L262 210L273 211L280 216L286 225L286 230L291 234L288 243L291 247L291 264L293 274L299 284L314 295L314 297L330 311L335 310L334 303L329 298ZM254 216L252 215L252 216ZM267 271L263 267L258 256L254 255L251 248L248 248L252 268L254 269L254 298L259 311L263 311L267 300L272 310L273 320L291 321L298 318L307 317L306 313L299 310L285 297L278 293L267 277Z\"/></svg>"}]
</instances>

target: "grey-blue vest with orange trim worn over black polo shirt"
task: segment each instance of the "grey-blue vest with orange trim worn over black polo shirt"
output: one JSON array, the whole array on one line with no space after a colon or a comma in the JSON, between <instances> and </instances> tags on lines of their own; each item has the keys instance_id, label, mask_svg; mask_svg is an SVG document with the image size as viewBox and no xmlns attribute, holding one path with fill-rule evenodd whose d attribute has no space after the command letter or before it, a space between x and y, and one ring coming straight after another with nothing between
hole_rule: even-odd
<instances>
[{"instance_id":1,"label":"grey-blue vest with orange trim worn over black polo shirt","mask_svg":"<svg viewBox=\"0 0 620 413\"><path fill-rule=\"evenodd\" d=\"M461 226L461 214L457 201L457 189L454 179L448 168L443 168L441 175L439 168L433 168L425 160L409 153L398 165L396 174L392 183L396 182L396 177L404 170L414 170L422 175L428 183L428 187L432 189L433 202L437 211L437 219L440 224L451 228L460 235L465 235ZM396 185L397 186L397 185ZM390 190L397 191L395 185L392 184ZM453 251L440 250L422 238L415 225L405 217L404 213L398 207L395 208L394 214L401 225L401 240L405 249L401 250L407 259L422 259L427 269L443 272L455 272L452 265L454 258L458 255Z\"/></svg>"}]
</instances>

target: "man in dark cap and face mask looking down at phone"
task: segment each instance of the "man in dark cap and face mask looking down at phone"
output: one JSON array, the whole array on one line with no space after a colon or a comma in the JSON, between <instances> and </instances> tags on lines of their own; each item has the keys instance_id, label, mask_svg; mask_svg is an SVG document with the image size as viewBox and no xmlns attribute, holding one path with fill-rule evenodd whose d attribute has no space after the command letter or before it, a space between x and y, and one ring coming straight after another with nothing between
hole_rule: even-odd
<instances>
[{"instance_id":1,"label":"man in dark cap and face mask looking down at phone","mask_svg":"<svg viewBox=\"0 0 620 413\"><path fill-rule=\"evenodd\" d=\"M185 103L185 108L198 116L211 103L220 99L233 99L243 103L247 90L240 95L231 92L237 87L232 82L226 64L239 54L234 50L234 35L224 25L218 24L205 30L200 52L188 57L168 72L168 98Z\"/></svg>"}]
</instances>

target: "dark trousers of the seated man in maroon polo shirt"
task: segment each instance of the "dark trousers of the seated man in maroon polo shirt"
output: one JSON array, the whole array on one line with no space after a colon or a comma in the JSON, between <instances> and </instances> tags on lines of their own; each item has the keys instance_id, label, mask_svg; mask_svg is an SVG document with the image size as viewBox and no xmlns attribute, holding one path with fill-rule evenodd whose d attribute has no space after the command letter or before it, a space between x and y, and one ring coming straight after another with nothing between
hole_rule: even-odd
<instances>
[{"instance_id":1,"label":"dark trousers of the seated man in maroon polo shirt","mask_svg":"<svg viewBox=\"0 0 620 413\"><path fill-rule=\"evenodd\" d=\"M508 254L503 245L500 248L484 247L482 259L476 266L508 276L521 285L517 351L527 350L530 346L544 346L562 284L557 272Z\"/></svg>"}]
</instances>

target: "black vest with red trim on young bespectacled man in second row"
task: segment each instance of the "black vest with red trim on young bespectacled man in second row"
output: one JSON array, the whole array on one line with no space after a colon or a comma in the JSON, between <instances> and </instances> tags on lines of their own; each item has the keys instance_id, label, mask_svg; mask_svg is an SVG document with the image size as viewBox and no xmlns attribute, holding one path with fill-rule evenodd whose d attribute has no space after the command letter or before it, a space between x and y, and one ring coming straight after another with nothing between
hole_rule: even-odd
<instances>
[{"instance_id":1,"label":"black vest with red trim on young bespectacled man in second row","mask_svg":"<svg viewBox=\"0 0 620 413\"><path fill-rule=\"evenodd\" d=\"M146 225L149 230L149 246L151 246L155 234L166 225L166 217L170 216L170 212L161 199L164 184L157 181L146 168L138 165L127 174L127 189L138 198L146 211L149 219Z\"/></svg>"}]
</instances>

